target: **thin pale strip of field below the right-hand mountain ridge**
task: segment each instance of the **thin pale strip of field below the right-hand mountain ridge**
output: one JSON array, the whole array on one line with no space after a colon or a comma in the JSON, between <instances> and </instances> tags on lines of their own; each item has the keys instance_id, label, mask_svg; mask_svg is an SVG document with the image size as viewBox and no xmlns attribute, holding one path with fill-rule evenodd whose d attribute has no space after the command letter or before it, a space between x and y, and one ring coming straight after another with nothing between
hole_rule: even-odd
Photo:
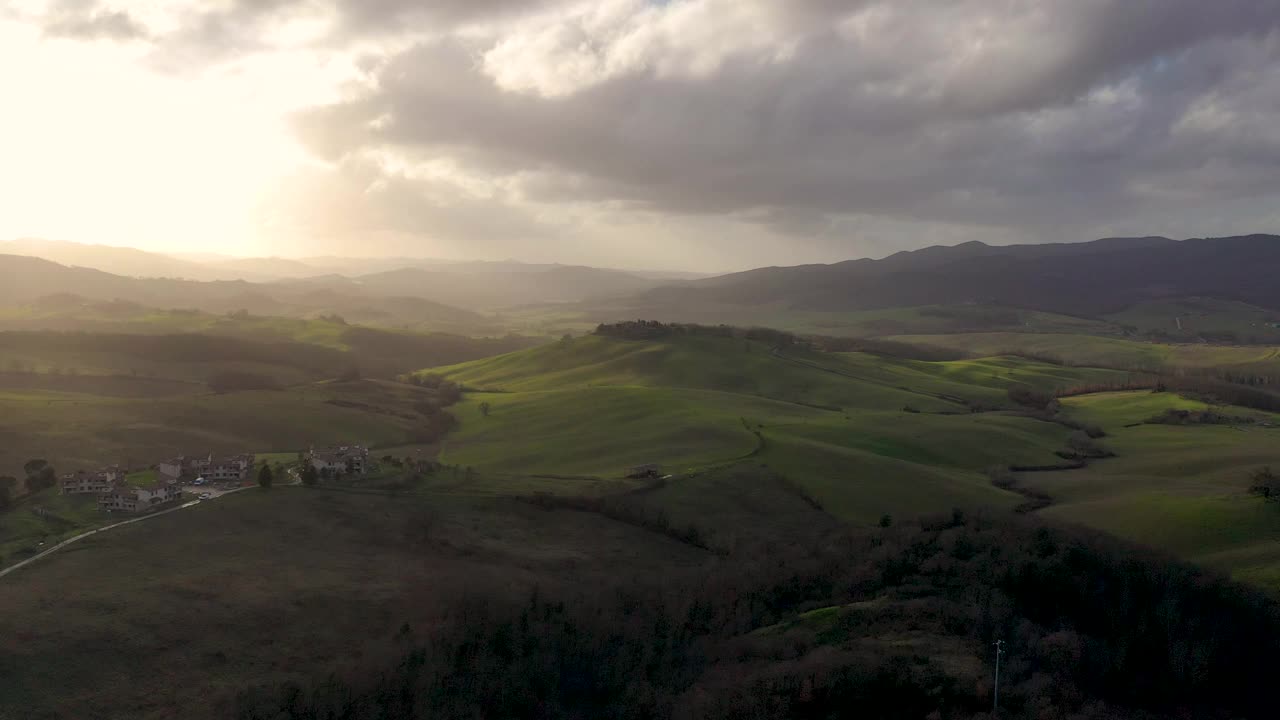
<instances>
[{"instance_id":1,"label":"thin pale strip of field below the right-hand mountain ridge","mask_svg":"<svg viewBox=\"0 0 1280 720\"><path fill-rule=\"evenodd\" d=\"M975 355L1032 352L1073 365L1105 368L1220 368L1256 365L1280 368L1280 348L1220 345L1162 345L1117 337L1039 333L913 334L892 340L961 350Z\"/></svg>"}]
</instances>

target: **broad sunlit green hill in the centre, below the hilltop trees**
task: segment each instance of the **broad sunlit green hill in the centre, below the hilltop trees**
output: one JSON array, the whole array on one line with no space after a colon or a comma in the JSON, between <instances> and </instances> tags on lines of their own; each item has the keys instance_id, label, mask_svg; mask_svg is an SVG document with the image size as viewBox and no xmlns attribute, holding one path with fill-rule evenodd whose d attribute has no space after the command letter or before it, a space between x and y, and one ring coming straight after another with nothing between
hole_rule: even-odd
<instances>
[{"instance_id":1,"label":"broad sunlit green hill in the centre, below the hilltop trees","mask_svg":"<svg viewBox=\"0 0 1280 720\"><path fill-rule=\"evenodd\" d=\"M690 474L740 460L794 478L856 521L1012 507L1020 498L983 471L1055 462L1070 430L970 405L1010 407L1014 384L1051 391L1125 377L1007 357L923 363L595 336L433 372L485 388L458 407L461 429L442 459L490 483L506 478L511 492L534 475L617 479L648 462Z\"/></svg>"}]
</instances>

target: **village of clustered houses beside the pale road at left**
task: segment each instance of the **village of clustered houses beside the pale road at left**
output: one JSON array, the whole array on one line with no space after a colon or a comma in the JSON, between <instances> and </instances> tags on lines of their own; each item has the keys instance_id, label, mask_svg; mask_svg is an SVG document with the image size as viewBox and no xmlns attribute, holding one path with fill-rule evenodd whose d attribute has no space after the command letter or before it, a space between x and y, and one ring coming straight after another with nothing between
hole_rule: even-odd
<instances>
[{"instance_id":1,"label":"village of clustered houses beside the pale road at left","mask_svg":"<svg viewBox=\"0 0 1280 720\"><path fill-rule=\"evenodd\" d=\"M301 470L289 470L296 482L307 471L317 479L333 479L364 475L371 469L369 448L360 445L311 447L298 459ZM266 460L261 462L265 465ZM215 493L248 487L256 482L253 473L259 468L253 454L179 455L138 471L108 465L68 473L59 478L59 489L63 495L96 495L99 507L106 512L141 514L177 502L184 492L209 500ZM131 482L138 477L146 482Z\"/></svg>"}]
</instances>

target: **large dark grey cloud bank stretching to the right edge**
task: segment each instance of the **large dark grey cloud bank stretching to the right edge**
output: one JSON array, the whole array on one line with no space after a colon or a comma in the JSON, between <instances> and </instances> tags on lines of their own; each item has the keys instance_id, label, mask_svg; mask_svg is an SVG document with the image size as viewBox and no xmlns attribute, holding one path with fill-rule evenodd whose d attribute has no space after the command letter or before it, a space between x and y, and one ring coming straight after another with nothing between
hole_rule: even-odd
<instances>
[{"instance_id":1,"label":"large dark grey cloud bank stretching to the right edge","mask_svg":"<svg viewBox=\"0 0 1280 720\"><path fill-rule=\"evenodd\" d=\"M781 58L746 45L712 72L659 72L662 53L681 50L655 44L568 90L504 90L476 60L485 47L424 45L366 92L302 115L300 133L329 158L387 149L539 172L525 187L548 202L772 209L760 217L796 232L818 222L805 213L1034 229L1181 191L1277 190L1280 137L1265 120L1280 111L1274 1L864 5L890 35L850 35L837 4L800 4L809 24ZM543 37L506 59L541 63L553 82L581 65L577 35L550 49ZM608 40L598 45L596 59Z\"/></svg>"}]
</instances>

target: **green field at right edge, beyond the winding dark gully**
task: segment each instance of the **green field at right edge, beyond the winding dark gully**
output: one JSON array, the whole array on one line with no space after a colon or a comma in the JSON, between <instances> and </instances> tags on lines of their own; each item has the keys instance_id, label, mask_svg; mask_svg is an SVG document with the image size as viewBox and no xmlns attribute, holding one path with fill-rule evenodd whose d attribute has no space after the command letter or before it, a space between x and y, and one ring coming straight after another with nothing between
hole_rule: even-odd
<instances>
[{"instance_id":1,"label":"green field at right edge, beyond the winding dark gully","mask_svg":"<svg viewBox=\"0 0 1280 720\"><path fill-rule=\"evenodd\" d=\"M1261 425L1138 425L1169 409L1197 410L1170 393L1065 398L1083 421L1108 432L1119 455L1084 470L1024 475L1048 492L1048 518L1103 529L1280 592L1280 507L1248 495L1248 475L1280 464L1280 429ZM1265 414L1222 409L1242 416Z\"/></svg>"}]
</instances>

